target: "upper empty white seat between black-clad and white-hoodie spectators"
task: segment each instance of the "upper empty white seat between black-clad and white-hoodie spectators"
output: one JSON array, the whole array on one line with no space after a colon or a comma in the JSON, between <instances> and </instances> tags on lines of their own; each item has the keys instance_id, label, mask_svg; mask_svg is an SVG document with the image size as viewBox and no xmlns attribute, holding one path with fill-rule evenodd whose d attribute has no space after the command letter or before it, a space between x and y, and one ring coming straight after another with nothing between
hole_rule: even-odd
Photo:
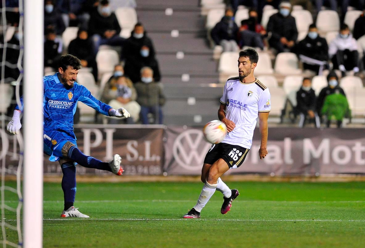
<instances>
[{"instance_id":1,"label":"upper empty white seat between black-clad and white-hoodie spectators","mask_svg":"<svg viewBox=\"0 0 365 248\"><path fill-rule=\"evenodd\" d=\"M339 31L340 19L334 10L321 10L318 13L316 26L320 32Z\"/></svg>"}]
</instances>

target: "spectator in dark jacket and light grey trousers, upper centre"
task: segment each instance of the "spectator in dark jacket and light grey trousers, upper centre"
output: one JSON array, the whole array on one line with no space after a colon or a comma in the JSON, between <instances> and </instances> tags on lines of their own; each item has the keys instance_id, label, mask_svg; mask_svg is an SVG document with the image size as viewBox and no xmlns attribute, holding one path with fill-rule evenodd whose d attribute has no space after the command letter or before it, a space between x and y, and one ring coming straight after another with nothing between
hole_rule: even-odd
<instances>
[{"instance_id":1,"label":"spectator in dark jacket and light grey trousers, upper centre","mask_svg":"<svg viewBox=\"0 0 365 248\"><path fill-rule=\"evenodd\" d=\"M211 31L212 39L216 45L223 47L223 52L238 51L237 46L238 27L234 21L232 9L226 9L222 20L215 24Z\"/></svg>"}]
</instances>

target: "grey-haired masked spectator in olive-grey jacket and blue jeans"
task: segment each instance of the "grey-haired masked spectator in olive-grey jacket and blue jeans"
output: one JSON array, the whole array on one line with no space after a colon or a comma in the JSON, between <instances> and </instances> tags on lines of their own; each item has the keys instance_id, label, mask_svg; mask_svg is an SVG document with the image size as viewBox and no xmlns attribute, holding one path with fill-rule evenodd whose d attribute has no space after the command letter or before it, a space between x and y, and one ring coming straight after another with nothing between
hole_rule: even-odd
<instances>
[{"instance_id":1,"label":"grey-haired masked spectator in olive-grey jacket and blue jeans","mask_svg":"<svg viewBox=\"0 0 365 248\"><path fill-rule=\"evenodd\" d=\"M162 84L153 81L153 70L150 67L143 67L141 82L134 86L137 90L137 102L141 105L142 124L149 124L149 113L154 115L156 124L162 124L162 105L165 104L165 96L162 92Z\"/></svg>"}]
</instances>

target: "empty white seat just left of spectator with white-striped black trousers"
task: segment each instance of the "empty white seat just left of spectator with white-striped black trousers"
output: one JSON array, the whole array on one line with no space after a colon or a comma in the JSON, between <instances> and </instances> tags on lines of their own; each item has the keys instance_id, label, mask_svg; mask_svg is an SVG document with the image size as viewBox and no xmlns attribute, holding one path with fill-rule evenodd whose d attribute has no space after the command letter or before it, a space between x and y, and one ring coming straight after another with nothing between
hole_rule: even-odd
<instances>
[{"instance_id":1,"label":"empty white seat just left of spectator with white-striped black trousers","mask_svg":"<svg viewBox=\"0 0 365 248\"><path fill-rule=\"evenodd\" d=\"M279 53L276 56L274 70L283 75L296 75L302 72L298 68L298 58L295 53Z\"/></svg>"}]
</instances>

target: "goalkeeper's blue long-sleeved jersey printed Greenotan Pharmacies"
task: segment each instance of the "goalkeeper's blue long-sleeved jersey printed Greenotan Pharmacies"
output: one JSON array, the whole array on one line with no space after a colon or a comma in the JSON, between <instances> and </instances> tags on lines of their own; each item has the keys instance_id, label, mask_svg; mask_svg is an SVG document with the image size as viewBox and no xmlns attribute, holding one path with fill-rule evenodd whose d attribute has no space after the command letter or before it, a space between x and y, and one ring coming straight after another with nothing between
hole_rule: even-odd
<instances>
[{"instance_id":1,"label":"goalkeeper's blue long-sleeved jersey printed Greenotan Pharmacies","mask_svg":"<svg viewBox=\"0 0 365 248\"><path fill-rule=\"evenodd\" d=\"M112 108L97 100L91 92L77 82L73 87L66 87L59 81L58 73L43 77L43 112L44 112L44 132L61 131L74 137L73 115L76 111L77 101L84 102L96 111L107 115ZM23 104L23 97L21 98ZM15 109L19 110L16 106Z\"/></svg>"}]
</instances>

